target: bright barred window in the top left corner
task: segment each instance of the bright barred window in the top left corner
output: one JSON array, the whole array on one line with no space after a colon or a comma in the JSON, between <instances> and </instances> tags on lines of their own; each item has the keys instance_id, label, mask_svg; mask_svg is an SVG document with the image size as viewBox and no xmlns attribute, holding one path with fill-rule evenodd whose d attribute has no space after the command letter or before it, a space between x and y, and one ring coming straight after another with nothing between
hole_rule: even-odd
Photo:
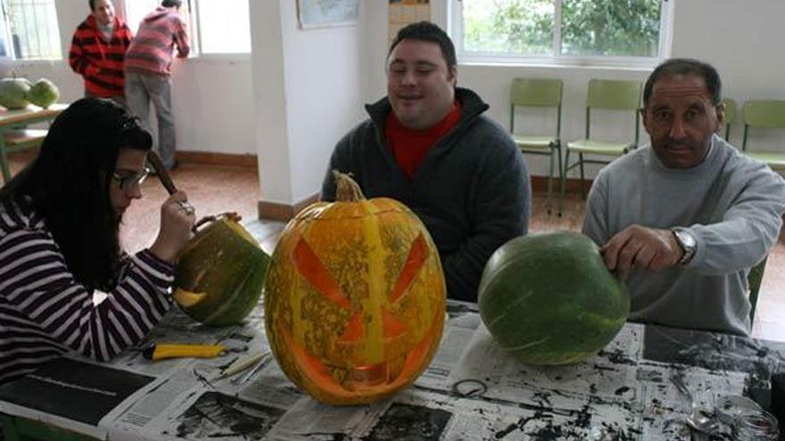
<instances>
[{"instance_id":1,"label":"bright barred window in the top left corner","mask_svg":"<svg viewBox=\"0 0 785 441\"><path fill-rule=\"evenodd\" d=\"M4 0L0 56L18 60L62 58L54 0Z\"/></svg>"}]
</instances>

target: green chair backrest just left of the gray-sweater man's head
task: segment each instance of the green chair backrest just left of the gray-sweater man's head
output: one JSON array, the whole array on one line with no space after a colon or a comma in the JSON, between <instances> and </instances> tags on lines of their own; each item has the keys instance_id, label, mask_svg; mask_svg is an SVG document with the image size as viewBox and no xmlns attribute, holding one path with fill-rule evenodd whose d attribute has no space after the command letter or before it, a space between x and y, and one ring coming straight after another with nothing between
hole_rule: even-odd
<instances>
[{"instance_id":1,"label":"green chair backrest just left of the gray-sweater man's head","mask_svg":"<svg viewBox=\"0 0 785 441\"><path fill-rule=\"evenodd\" d=\"M586 96L586 139L590 138L591 109L631 110L635 114L635 145L640 139L640 81L620 79L589 80Z\"/></svg>"}]
</instances>

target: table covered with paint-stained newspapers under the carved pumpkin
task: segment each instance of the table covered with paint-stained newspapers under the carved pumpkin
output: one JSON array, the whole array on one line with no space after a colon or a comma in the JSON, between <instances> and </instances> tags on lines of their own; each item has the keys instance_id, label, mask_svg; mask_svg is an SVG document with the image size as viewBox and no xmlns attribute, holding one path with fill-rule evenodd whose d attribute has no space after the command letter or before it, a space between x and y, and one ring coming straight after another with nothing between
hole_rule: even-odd
<instances>
[{"instance_id":1,"label":"table covered with paint-stained newspapers under the carved pumpkin","mask_svg":"<svg viewBox=\"0 0 785 441\"><path fill-rule=\"evenodd\" d=\"M637 323L585 363L525 366L496 345L475 305L450 301L440 349L414 386L381 403L334 407L294 388L275 362L245 384L216 380L236 356L268 348L261 314L211 329L172 311L153 340L221 341L231 351L157 363L135 351L103 365L59 359L0 388L0 413L120 441L686 440L674 372L709 405L742 394L767 405L771 374L785 372L782 343Z\"/></svg>"}]
</instances>

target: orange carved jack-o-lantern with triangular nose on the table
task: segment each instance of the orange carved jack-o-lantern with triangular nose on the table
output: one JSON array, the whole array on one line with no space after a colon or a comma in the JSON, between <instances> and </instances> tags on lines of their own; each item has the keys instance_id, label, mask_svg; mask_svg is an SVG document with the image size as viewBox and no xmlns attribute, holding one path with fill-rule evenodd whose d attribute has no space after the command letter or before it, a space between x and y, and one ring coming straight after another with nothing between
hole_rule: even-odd
<instances>
[{"instance_id":1,"label":"orange carved jack-o-lantern with triangular nose on the table","mask_svg":"<svg viewBox=\"0 0 785 441\"><path fill-rule=\"evenodd\" d=\"M265 283L267 335L281 369L328 404L384 398L417 379L442 338L439 254L409 208L366 200L336 174L333 203L296 216Z\"/></svg>"}]
</instances>

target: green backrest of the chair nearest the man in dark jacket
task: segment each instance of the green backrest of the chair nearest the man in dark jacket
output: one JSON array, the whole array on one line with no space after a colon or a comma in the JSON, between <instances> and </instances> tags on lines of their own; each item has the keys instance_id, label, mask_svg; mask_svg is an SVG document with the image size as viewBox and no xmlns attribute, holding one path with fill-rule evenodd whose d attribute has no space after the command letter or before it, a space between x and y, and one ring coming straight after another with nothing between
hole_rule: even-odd
<instances>
[{"instance_id":1,"label":"green backrest of the chair nearest the man in dark jacket","mask_svg":"<svg viewBox=\"0 0 785 441\"><path fill-rule=\"evenodd\" d=\"M556 137L561 134L562 81L558 78L515 78L509 90L509 131L515 133L515 108L557 108Z\"/></svg>"}]
</instances>

